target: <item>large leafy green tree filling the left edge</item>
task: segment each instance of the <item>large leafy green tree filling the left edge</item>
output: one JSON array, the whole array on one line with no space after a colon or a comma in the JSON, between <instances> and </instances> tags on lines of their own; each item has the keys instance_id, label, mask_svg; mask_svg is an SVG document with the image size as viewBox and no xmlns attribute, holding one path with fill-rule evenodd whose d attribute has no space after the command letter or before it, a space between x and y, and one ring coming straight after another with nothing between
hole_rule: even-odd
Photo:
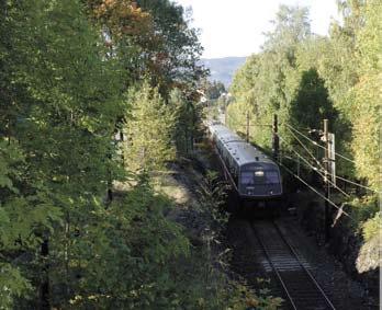
<instances>
[{"instance_id":1,"label":"large leafy green tree filling the left edge","mask_svg":"<svg viewBox=\"0 0 382 310\"><path fill-rule=\"evenodd\" d=\"M2 5L1 20L12 36L0 47L7 76L0 114L8 124L0 130L0 213L7 222L1 244L7 255L0 264L9 274L1 287L13 289L4 299L11 300L32 287L35 290L40 286L43 298L33 303L49 308L49 283L50 288L65 284L70 294L72 225L96 207L110 172L117 171L108 159L114 152L113 124L124 108L121 79L115 61L104 61L78 1ZM15 259L22 263L9 268ZM53 277L55 268L64 271L63 277ZM23 308L26 301L19 302L15 307Z\"/></svg>"}]
</instances>

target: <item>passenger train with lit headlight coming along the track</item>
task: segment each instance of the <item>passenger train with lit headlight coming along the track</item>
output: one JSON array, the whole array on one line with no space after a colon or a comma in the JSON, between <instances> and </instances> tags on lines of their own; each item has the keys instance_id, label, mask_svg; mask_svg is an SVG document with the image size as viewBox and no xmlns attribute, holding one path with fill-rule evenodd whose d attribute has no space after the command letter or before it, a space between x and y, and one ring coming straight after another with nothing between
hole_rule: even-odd
<instances>
[{"instance_id":1,"label":"passenger train with lit headlight coming along the track","mask_svg":"<svg viewBox=\"0 0 382 310\"><path fill-rule=\"evenodd\" d=\"M280 200L283 191L278 164L220 122L209 122L207 128L224 175L237 196L257 206Z\"/></svg>"}]
</instances>

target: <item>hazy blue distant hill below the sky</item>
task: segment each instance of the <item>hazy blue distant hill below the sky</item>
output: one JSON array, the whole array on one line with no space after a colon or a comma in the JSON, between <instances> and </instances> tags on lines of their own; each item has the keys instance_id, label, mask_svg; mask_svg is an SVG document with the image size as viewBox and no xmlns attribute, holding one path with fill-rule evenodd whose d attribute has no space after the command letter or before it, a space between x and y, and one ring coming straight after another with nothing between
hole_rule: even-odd
<instances>
[{"instance_id":1,"label":"hazy blue distant hill below the sky","mask_svg":"<svg viewBox=\"0 0 382 310\"><path fill-rule=\"evenodd\" d=\"M228 87L234 71L240 67L247 57L202 58L201 62L211 71L211 81L221 81Z\"/></svg>"}]
</instances>

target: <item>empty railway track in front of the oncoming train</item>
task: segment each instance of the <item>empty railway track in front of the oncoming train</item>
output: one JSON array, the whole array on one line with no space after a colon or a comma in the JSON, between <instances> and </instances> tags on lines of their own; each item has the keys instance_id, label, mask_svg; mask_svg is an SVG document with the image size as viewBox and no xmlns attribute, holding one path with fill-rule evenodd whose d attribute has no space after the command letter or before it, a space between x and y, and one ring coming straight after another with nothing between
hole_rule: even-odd
<instances>
[{"instance_id":1,"label":"empty railway track in front of the oncoming train","mask_svg":"<svg viewBox=\"0 0 382 310\"><path fill-rule=\"evenodd\" d=\"M261 244L269 266L280 282L289 309L336 309L293 246L283 237L277 222L255 221L251 227Z\"/></svg>"}]
</instances>

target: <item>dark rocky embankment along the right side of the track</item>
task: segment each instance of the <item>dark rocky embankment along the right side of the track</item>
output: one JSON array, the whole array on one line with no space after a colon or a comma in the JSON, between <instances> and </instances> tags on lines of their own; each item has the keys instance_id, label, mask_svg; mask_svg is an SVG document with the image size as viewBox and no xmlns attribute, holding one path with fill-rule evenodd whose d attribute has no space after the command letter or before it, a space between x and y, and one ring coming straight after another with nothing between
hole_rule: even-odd
<instances>
[{"instance_id":1,"label":"dark rocky embankment along the right side of the track","mask_svg":"<svg viewBox=\"0 0 382 310\"><path fill-rule=\"evenodd\" d=\"M290 195L289 205L304 229L314 237L319 245L324 245L324 202L308 192ZM345 213L351 206L344 206ZM339 263L341 268L364 290L364 297L370 306L380 303L380 234L366 239L361 228L351 222L352 219L340 215L337 210L332 213L332 227L329 242L325 245Z\"/></svg>"}]
</instances>

